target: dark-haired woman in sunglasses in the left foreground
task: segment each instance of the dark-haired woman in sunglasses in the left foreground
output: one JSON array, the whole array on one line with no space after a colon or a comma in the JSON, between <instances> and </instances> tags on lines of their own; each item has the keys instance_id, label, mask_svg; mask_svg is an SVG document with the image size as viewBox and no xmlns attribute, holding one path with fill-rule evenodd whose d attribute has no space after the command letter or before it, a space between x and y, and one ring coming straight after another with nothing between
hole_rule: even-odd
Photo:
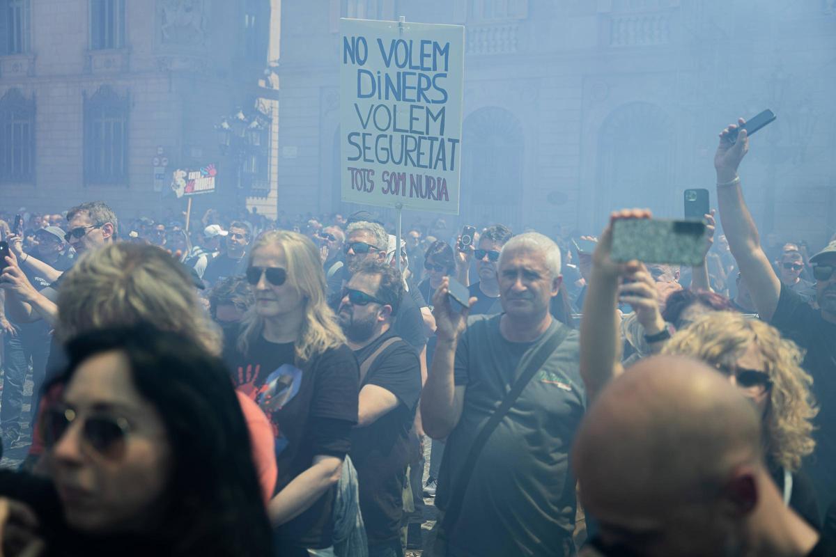
<instances>
[{"instance_id":1,"label":"dark-haired woman in sunglasses in the left foreground","mask_svg":"<svg viewBox=\"0 0 836 557\"><path fill-rule=\"evenodd\" d=\"M45 479L0 480L13 499L0 500L12 512L4 550L271 554L247 424L219 358L150 323L84 333L68 354L40 425Z\"/></svg>"}]
</instances>

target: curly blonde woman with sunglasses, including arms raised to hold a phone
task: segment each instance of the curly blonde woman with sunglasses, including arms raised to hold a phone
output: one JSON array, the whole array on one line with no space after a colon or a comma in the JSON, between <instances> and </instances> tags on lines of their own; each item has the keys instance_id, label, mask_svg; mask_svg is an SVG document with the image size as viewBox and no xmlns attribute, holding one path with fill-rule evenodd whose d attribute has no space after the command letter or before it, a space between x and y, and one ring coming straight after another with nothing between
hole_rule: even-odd
<instances>
[{"instance_id":1,"label":"curly blonde woman with sunglasses, including arms raised to hold a phone","mask_svg":"<svg viewBox=\"0 0 836 557\"><path fill-rule=\"evenodd\" d=\"M643 210L614 213L617 219L648 218ZM637 313L655 313L655 327L645 337L664 354L695 357L728 377L762 415L767 463L787 503L810 524L820 528L818 506L808 479L799 474L802 459L813 452L812 419L817 410L810 394L812 380L800 367L802 354L774 327L732 311L702 311L693 322L670 337L659 315L655 288L639 261L617 263L609 254L610 225L593 254L593 271L581 320L580 368L589 400L624 370L622 339L616 306L630 304ZM621 284L619 284L619 282ZM673 295L671 295L673 296ZM721 297L721 296L719 296ZM670 299L665 312L670 309ZM648 329L650 331L650 329Z\"/></svg>"}]
</instances>

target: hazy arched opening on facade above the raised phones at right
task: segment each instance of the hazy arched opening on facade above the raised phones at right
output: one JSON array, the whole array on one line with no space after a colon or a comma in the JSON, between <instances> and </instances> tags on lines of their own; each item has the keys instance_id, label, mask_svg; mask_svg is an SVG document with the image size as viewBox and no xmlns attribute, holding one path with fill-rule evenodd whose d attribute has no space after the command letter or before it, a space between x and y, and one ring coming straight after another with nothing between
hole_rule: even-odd
<instances>
[{"instance_id":1,"label":"hazy arched opening on facade above the raised phones at right","mask_svg":"<svg viewBox=\"0 0 836 557\"><path fill-rule=\"evenodd\" d=\"M673 181L673 123L655 104L633 103L614 110L598 140L595 214L649 207L660 217L678 216ZM599 225L603 224L600 220Z\"/></svg>"}]
</instances>

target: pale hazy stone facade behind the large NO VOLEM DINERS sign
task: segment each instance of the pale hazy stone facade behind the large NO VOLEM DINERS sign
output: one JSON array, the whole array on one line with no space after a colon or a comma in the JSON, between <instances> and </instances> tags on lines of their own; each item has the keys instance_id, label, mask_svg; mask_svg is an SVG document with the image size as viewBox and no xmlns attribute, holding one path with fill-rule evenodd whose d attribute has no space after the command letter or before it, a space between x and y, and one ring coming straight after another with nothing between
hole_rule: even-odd
<instances>
[{"instance_id":1,"label":"pale hazy stone facade behind the large NO VOLEM DINERS sign","mask_svg":"<svg viewBox=\"0 0 836 557\"><path fill-rule=\"evenodd\" d=\"M458 225L594 233L621 207L680 216L687 188L713 204L717 132L770 108L743 169L762 230L836 231L830 0L285 2L280 206L353 209L336 173L339 18L400 15L466 26Z\"/></svg>"}]
</instances>

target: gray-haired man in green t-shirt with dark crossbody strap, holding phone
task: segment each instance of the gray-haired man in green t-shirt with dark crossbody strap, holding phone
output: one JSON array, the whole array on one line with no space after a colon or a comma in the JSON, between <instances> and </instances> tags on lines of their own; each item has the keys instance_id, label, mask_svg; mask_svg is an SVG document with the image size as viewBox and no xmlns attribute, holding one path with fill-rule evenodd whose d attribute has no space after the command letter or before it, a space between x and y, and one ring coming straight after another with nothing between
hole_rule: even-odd
<instances>
[{"instance_id":1,"label":"gray-haired man in green t-shirt with dark crossbody strap, holding phone","mask_svg":"<svg viewBox=\"0 0 836 557\"><path fill-rule=\"evenodd\" d=\"M438 341L421 415L431 438L449 438L436 492L443 535L431 554L562 557L574 552L568 448L586 401L578 333L548 311L560 250L536 232L515 236L497 276L502 314L467 320L446 278L434 298Z\"/></svg>"}]
</instances>

